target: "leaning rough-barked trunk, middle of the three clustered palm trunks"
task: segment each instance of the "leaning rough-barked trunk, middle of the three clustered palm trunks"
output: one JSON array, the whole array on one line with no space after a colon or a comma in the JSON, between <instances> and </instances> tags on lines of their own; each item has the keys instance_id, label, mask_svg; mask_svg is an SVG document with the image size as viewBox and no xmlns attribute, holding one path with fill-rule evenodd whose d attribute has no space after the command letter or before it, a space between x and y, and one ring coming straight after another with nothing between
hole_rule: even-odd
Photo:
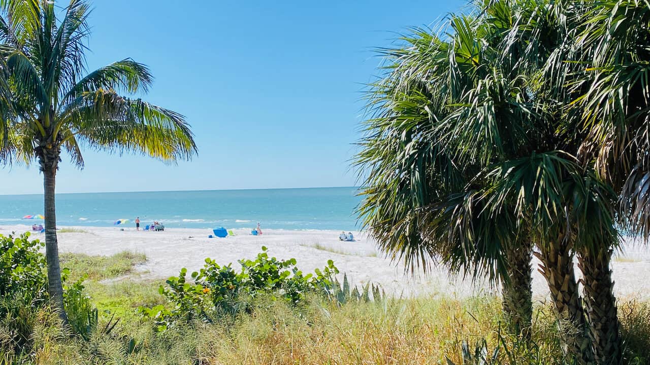
<instances>
[{"instance_id":1,"label":"leaning rough-barked trunk, middle of the three clustered palm trunks","mask_svg":"<svg viewBox=\"0 0 650 365\"><path fill-rule=\"evenodd\" d=\"M551 290L566 360L580 365L593 364L593 352L586 333L584 311L573 269L573 253L569 245L560 238L558 242L550 242L535 255L541 260L539 272Z\"/></svg>"}]
</instances>

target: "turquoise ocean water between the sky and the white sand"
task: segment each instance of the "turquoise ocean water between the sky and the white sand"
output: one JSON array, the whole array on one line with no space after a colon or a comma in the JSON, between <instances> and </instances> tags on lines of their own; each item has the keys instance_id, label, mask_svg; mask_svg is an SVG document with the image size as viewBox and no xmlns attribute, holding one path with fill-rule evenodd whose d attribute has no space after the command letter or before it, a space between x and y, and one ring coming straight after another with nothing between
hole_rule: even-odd
<instances>
[{"instance_id":1,"label":"turquoise ocean water between the sky and the white sand","mask_svg":"<svg viewBox=\"0 0 650 365\"><path fill-rule=\"evenodd\" d=\"M160 221L166 227L263 229L357 229L361 198L349 188L200 190L57 194L57 226L133 226ZM0 195L0 225L43 223L23 220L43 214L43 195Z\"/></svg>"}]
</instances>

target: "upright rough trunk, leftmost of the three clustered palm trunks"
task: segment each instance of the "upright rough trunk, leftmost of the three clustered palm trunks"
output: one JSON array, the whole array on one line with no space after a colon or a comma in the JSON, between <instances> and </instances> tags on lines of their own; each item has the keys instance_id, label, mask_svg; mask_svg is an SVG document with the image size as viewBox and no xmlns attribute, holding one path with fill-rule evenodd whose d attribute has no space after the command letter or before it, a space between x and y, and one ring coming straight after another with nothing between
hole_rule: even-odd
<instances>
[{"instance_id":1,"label":"upright rough trunk, leftmost of the three clustered palm trunks","mask_svg":"<svg viewBox=\"0 0 650 365\"><path fill-rule=\"evenodd\" d=\"M532 325L532 242L506 249L507 278L503 282L503 310L510 333L530 340Z\"/></svg>"}]
</instances>

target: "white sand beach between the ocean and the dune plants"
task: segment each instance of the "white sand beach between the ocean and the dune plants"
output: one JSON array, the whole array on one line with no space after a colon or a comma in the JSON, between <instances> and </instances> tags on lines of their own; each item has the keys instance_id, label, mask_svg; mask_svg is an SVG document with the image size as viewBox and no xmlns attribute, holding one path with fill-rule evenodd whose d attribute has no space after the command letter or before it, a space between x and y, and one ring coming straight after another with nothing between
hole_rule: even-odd
<instances>
[{"instance_id":1,"label":"white sand beach between the ocean and the dune plants","mask_svg":"<svg viewBox=\"0 0 650 365\"><path fill-rule=\"evenodd\" d=\"M232 263L239 268L240 258L254 258L264 245L269 255L279 259L296 258L298 268L313 271L326 266L331 259L341 273L357 284L368 281L381 284L387 293L395 296L422 294L465 297L495 292L485 282L471 283L452 278L445 268L433 267L427 273L404 271L400 262L385 258L376 243L363 233L354 232L356 242L341 242L339 231L283 231L265 230L262 236L252 236L247 229L235 229L235 236L208 238L209 229L168 228L162 232L136 231L127 227L75 227L86 233L60 233L61 252L88 255L112 255L129 250L144 253L147 262L138 267L144 279L166 278L177 275L181 268L195 271L203 266L206 257L220 264ZM27 225L0 227L0 234L29 231ZM44 240L44 234L32 234ZM537 264L537 263L536 263ZM650 249L647 246L626 242L623 251L612 262L617 295L650 299ZM577 270L577 269L576 269ZM577 271L579 273L579 271ZM546 283L534 270L534 295L547 297Z\"/></svg>"}]
</instances>

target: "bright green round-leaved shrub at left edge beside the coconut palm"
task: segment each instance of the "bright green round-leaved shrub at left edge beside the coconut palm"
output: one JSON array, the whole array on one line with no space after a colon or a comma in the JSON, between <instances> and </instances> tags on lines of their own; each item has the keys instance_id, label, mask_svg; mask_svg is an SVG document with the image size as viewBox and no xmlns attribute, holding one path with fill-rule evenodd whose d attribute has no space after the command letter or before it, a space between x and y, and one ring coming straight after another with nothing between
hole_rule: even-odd
<instances>
[{"instance_id":1,"label":"bright green round-leaved shrub at left edge beside the coconut palm","mask_svg":"<svg viewBox=\"0 0 650 365\"><path fill-rule=\"evenodd\" d=\"M1 298L22 303L45 301L45 256L39 251L44 245L39 240L30 241L29 233L16 238L0 234Z\"/></svg>"}]
</instances>

